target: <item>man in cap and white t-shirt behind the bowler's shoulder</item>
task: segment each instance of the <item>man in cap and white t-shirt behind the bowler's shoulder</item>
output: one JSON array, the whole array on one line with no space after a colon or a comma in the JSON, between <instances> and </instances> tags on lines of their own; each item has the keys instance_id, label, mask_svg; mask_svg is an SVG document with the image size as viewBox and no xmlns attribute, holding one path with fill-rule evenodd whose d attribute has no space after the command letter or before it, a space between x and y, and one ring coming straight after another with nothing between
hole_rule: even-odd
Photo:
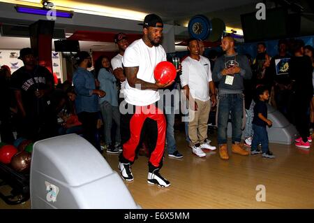
<instances>
[{"instance_id":1,"label":"man in cap and white t-shirt behind the bowler's shoulder","mask_svg":"<svg viewBox=\"0 0 314 223\"><path fill-rule=\"evenodd\" d=\"M124 87L126 85L126 75L124 74L124 66L122 64L122 59L124 58L124 52L128 47L128 38L126 34L119 33L114 36L114 43L118 45L119 53L111 59L111 66L114 76L120 80L120 98L123 98Z\"/></svg>"}]
</instances>

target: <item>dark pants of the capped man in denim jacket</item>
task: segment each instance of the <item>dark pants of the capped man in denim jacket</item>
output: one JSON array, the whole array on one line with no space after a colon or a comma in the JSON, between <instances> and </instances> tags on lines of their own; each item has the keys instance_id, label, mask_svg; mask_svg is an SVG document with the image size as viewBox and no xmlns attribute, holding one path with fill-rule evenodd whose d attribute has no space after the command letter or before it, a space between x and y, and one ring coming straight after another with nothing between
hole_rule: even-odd
<instances>
[{"instance_id":1,"label":"dark pants of the capped man in denim jacket","mask_svg":"<svg viewBox=\"0 0 314 223\"><path fill-rule=\"evenodd\" d=\"M97 120L98 120L98 113L87 113L82 112L78 113L77 117L79 121L82 123L83 128L83 136L84 138L94 145L94 147L101 151L99 138L97 137Z\"/></svg>"}]
</instances>

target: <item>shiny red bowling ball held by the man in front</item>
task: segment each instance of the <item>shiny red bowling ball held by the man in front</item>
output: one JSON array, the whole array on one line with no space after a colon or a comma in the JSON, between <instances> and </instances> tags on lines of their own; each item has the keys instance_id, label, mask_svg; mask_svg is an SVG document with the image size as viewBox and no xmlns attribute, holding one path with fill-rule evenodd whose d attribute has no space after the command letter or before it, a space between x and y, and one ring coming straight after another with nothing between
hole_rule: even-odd
<instances>
[{"instance_id":1,"label":"shiny red bowling ball held by the man in front","mask_svg":"<svg viewBox=\"0 0 314 223\"><path fill-rule=\"evenodd\" d=\"M161 84L171 82L176 76L177 70L170 62L160 62L154 69L155 80L159 81Z\"/></svg>"}]
</instances>

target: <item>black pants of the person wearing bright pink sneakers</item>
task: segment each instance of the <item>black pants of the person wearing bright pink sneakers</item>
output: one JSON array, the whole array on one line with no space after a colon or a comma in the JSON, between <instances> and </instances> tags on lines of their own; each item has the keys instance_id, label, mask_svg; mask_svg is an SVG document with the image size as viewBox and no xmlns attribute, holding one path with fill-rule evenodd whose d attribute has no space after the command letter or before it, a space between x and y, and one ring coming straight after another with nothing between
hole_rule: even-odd
<instances>
[{"instance_id":1,"label":"black pants of the person wearing bright pink sneakers","mask_svg":"<svg viewBox=\"0 0 314 223\"><path fill-rule=\"evenodd\" d=\"M294 101L294 123L299 131L302 141L308 141L308 136L310 136L309 124L310 117L308 115L308 108L311 103L312 96L306 95L296 95Z\"/></svg>"}]
</instances>

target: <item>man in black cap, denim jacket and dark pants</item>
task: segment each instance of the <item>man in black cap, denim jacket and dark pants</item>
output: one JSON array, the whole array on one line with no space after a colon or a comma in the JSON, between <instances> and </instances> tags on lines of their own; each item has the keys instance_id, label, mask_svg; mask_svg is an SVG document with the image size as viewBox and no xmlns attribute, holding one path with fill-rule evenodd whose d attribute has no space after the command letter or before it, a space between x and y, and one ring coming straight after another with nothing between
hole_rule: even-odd
<instances>
[{"instance_id":1,"label":"man in black cap, denim jacket and dark pants","mask_svg":"<svg viewBox=\"0 0 314 223\"><path fill-rule=\"evenodd\" d=\"M77 93L75 99L75 109L77 116L82 123L84 138L94 147L100 149L100 142L96 137L99 97L105 96L105 92L96 89L96 79L94 75L87 71L91 68L91 55L86 51L77 52L75 55L77 70L73 74L73 85Z\"/></svg>"}]
</instances>

